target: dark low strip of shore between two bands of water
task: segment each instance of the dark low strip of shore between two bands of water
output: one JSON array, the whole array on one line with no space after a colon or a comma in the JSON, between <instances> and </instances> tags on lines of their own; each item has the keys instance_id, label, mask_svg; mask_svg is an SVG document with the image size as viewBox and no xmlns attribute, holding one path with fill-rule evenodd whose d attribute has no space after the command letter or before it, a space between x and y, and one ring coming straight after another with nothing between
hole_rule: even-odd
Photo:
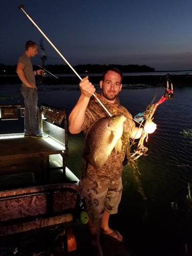
<instances>
[{"instance_id":1,"label":"dark low strip of shore between two bands of water","mask_svg":"<svg viewBox=\"0 0 192 256\"><path fill-rule=\"evenodd\" d=\"M84 74L86 76L86 74ZM123 77L123 84L150 84L151 86L157 87L161 81L162 75L125 75ZM170 80L174 86L192 86L192 75L170 75ZM89 77L92 83L99 83L101 76L90 75ZM1 76L0 85L3 84L18 84L20 79L18 76ZM44 84L78 84L79 78L72 76L65 76L60 74L59 78L45 76L43 78Z\"/></svg>"}]
</instances>

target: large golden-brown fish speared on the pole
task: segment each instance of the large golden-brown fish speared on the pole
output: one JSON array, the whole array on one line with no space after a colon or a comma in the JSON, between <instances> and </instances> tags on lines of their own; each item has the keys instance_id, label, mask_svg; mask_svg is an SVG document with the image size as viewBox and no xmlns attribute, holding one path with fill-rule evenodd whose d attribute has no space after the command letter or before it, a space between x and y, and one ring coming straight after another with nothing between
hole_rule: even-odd
<instances>
[{"instance_id":1,"label":"large golden-brown fish speared on the pole","mask_svg":"<svg viewBox=\"0 0 192 256\"><path fill-rule=\"evenodd\" d=\"M111 155L121 152L124 115L103 117L96 121L90 128L85 139L84 156L95 168L102 167Z\"/></svg>"}]
</instances>

